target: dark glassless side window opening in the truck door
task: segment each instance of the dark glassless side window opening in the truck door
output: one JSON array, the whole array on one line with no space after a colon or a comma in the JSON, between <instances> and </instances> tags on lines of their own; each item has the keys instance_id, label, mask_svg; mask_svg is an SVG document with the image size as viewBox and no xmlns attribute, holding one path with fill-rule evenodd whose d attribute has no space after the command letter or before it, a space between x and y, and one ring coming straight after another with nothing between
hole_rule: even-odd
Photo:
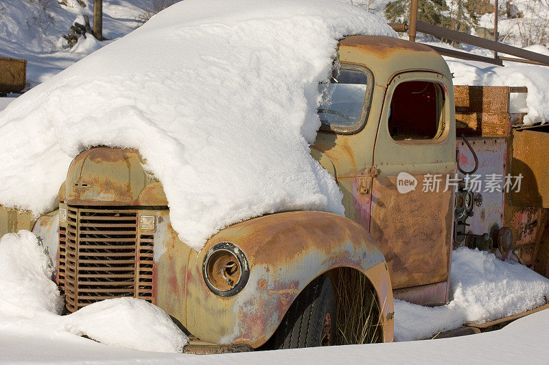
<instances>
[{"instance_id":1,"label":"dark glassless side window opening in the truck door","mask_svg":"<svg viewBox=\"0 0 549 365\"><path fill-rule=\"evenodd\" d=\"M444 129L444 92L439 84L398 84L390 102L389 134L395 141L438 138Z\"/></svg>"}]
</instances>

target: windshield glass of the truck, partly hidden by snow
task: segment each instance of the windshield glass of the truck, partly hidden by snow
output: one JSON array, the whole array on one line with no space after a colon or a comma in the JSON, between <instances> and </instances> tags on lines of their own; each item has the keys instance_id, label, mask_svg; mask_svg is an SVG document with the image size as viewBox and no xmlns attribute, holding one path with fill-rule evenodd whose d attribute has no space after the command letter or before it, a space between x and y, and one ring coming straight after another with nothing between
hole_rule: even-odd
<instances>
[{"instance_id":1,"label":"windshield glass of the truck, partly hidden by snow","mask_svg":"<svg viewBox=\"0 0 549 365\"><path fill-rule=\"evenodd\" d=\"M342 69L329 83L318 84L318 91L322 95L318 106L320 121L330 129L347 129L360 122L368 91L368 75Z\"/></svg>"}]
</instances>

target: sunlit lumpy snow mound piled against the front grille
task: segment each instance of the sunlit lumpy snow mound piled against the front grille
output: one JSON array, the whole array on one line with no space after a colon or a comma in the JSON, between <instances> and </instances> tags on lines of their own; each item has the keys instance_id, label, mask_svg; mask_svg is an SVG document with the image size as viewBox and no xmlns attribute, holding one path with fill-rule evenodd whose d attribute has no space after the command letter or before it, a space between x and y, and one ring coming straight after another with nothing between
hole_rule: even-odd
<instances>
[{"instance_id":1,"label":"sunlit lumpy snow mound piled against the front grille","mask_svg":"<svg viewBox=\"0 0 549 365\"><path fill-rule=\"evenodd\" d=\"M0 330L30 335L73 333L141 351L181 352L188 338L165 312L136 298L93 303L59 316L62 297L51 260L29 231L0 239Z\"/></svg>"}]
</instances>

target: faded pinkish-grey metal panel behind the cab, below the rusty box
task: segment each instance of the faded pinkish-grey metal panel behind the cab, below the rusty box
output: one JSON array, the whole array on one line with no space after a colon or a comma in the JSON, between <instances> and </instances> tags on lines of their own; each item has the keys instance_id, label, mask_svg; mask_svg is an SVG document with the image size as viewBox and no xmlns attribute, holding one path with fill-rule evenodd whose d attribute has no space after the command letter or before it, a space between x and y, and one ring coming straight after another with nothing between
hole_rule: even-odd
<instances>
[{"instance_id":1,"label":"faded pinkish-grey metal panel behind the cab, below the rusty box","mask_svg":"<svg viewBox=\"0 0 549 365\"><path fill-rule=\"evenodd\" d=\"M491 233L493 229L497 231L503 226L504 192L502 190L506 176L507 141L502 137L471 137L468 140L478 157L478 169L475 175L480 176L482 185L480 191L474 192L482 196L482 205L480 207L474 205L474 215L469 217L470 226L467 233L482 235ZM463 140L456 141L456 149L459 152L460 167L465 171L471 171L475 161ZM456 171L456 173L458 172ZM492 174L502 178L500 191L486 189L484 182L487 180L487 176ZM463 178L462 174L459 175Z\"/></svg>"}]
</instances>

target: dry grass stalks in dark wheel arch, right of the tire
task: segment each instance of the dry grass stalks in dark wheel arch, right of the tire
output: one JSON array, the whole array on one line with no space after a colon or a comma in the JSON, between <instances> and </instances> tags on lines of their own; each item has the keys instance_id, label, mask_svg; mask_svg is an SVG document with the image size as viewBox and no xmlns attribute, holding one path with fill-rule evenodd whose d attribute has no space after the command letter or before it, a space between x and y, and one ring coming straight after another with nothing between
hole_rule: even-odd
<instances>
[{"instance_id":1,"label":"dry grass stalks in dark wheel arch, right of the tire","mask_svg":"<svg viewBox=\"0 0 549 365\"><path fill-rule=\"evenodd\" d=\"M340 268L336 276L336 344L382 342L382 310L366 276L349 268Z\"/></svg>"}]
</instances>

